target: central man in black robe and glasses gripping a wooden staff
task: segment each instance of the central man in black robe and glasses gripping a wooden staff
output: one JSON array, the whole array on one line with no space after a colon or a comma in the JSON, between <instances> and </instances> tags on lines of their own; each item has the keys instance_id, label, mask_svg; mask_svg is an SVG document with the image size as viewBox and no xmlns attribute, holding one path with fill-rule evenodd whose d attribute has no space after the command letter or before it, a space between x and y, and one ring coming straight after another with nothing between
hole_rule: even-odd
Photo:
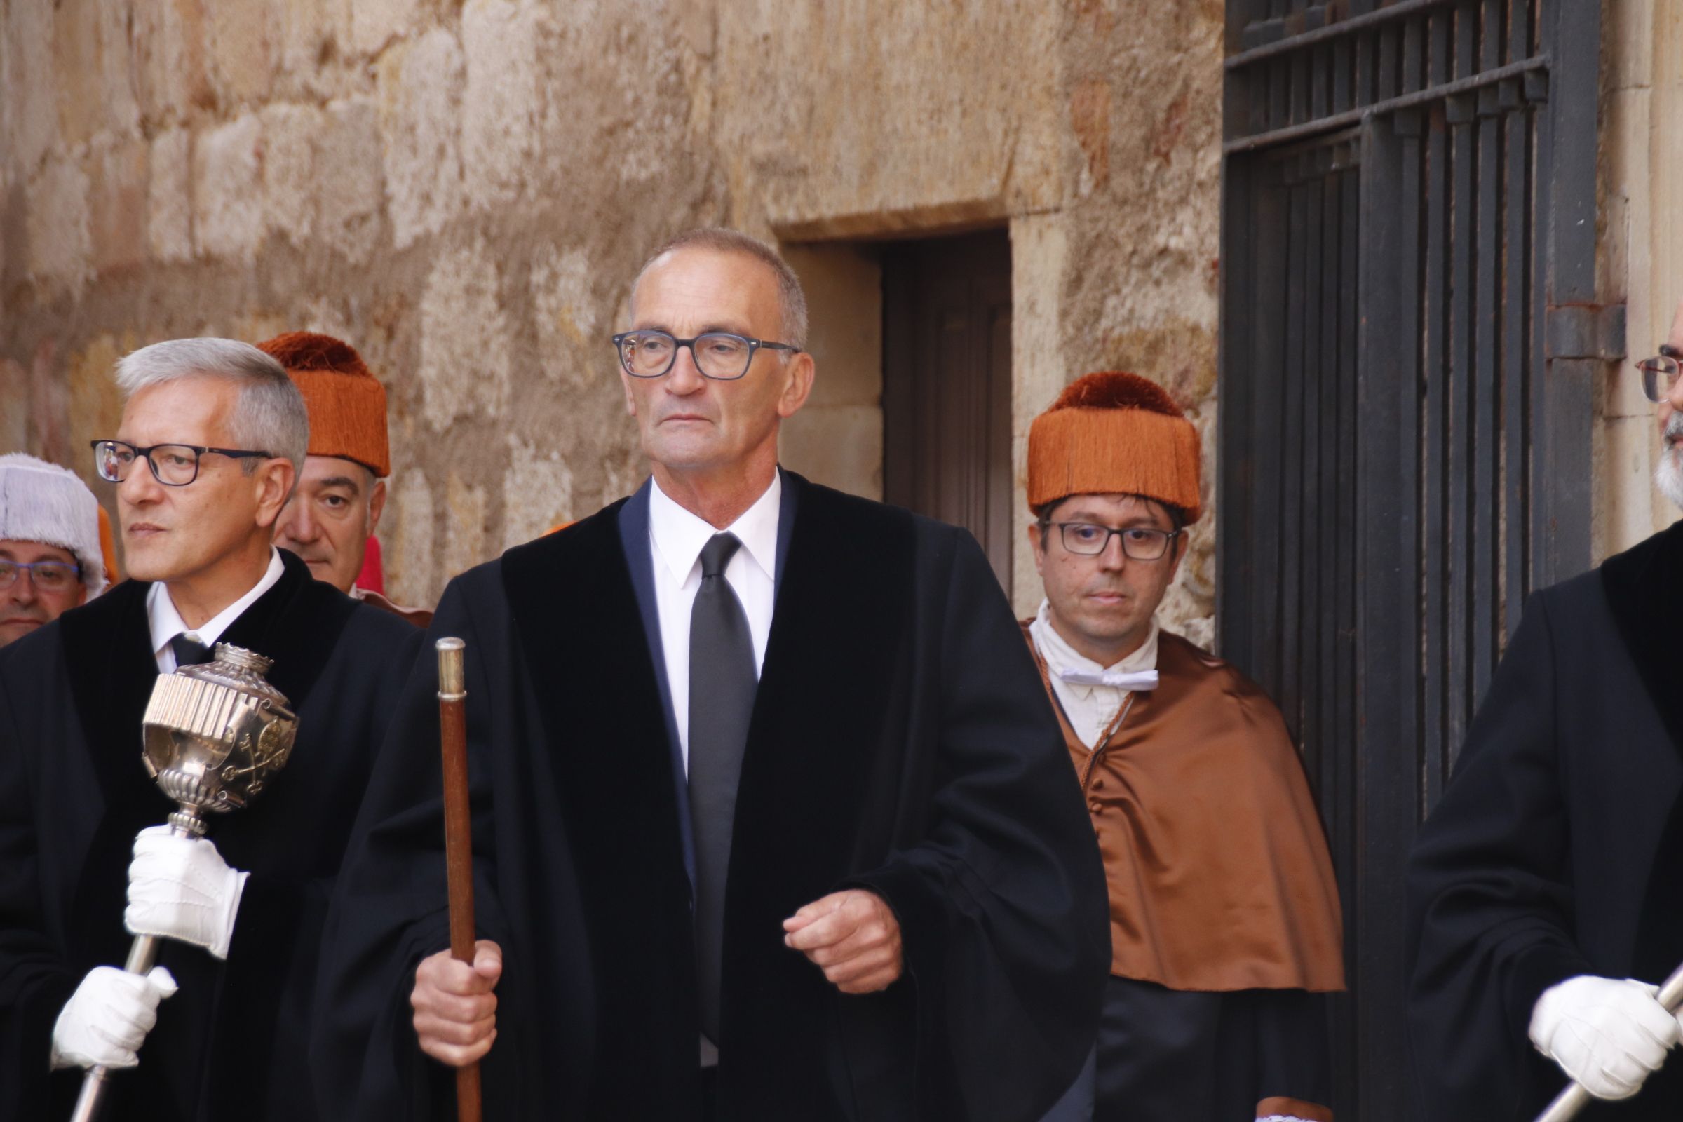
<instances>
[{"instance_id":1,"label":"central man in black robe and glasses gripping a wooden staff","mask_svg":"<svg viewBox=\"0 0 1683 1122\"><path fill-rule=\"evenodd\" d=\"M498 1120L1037 1119L1094 1040L1104 881L981 550L778 468L813 363L771 249L682 236L633 316L653 479L433 624L466 639L476 962L441 952L417 669L323 949L325 1102L446 1117L433 1056L483 1058Z\"/></svg>"}]
</instances>

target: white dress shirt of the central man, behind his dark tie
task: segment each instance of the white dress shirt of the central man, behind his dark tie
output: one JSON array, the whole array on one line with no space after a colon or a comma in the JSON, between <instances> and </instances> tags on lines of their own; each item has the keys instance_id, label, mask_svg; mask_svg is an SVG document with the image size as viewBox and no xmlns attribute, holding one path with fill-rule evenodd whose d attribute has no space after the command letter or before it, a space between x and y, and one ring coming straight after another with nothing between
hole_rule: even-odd
<instances>
[{"instance_id":1,"label":"white dress shirt of the central man, behind his dark tie","mask_svg":"<svg viewBox=\"0 0 1683 1122\"><path fill-rule=\"evenodd\" d=\"M690 609L702 587L702 547L715 533L734 533L741 542L725 580L742 602L749 636L754 639L754 673L766 663L771 609L778 592L778 516L783 476L774 474L766 493L724 530L678 506L650 479L648 548L655 562L655 606L660 612L660 644L666 654L666 683L672 713L678 722L678 750L690 770Z\"/></svg>"}]
</instances>

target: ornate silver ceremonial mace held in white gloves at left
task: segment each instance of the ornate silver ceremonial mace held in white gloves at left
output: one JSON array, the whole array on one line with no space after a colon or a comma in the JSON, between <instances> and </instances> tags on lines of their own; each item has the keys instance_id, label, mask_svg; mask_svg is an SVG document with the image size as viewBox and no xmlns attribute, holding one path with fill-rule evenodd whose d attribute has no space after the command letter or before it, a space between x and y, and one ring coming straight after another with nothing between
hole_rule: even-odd
<instances>
[{"instance_id":1,"label":"ornate silver ceremonial mace held in white gloves at left","mask_svg":"<svg viewBox=\"0 0 1683 1122\"><path fill-rule=\"evenodd\" d=\"M293 750L298 717L279 690L263 680L269 659L215 644L215 658L158 675L141 722L146 774L175 801L170 829L204 838L205 811L226 814L249 804ZM136 935L123 969L148 972L158 959L158 937ZM111 1070L89 1068L71 1122L94 1122L104 1103Z\"/></svg>"}]
</instances>

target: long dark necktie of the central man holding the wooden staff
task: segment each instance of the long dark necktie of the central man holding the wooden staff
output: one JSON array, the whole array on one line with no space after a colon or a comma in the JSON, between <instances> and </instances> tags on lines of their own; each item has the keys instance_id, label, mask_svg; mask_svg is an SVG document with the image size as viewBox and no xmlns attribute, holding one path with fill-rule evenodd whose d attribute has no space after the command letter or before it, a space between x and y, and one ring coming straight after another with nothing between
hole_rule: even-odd
<instances>
[{"instance_id":1,"label":"long dark necktie of the central man holding the wooden staff","mask_svg":"<svg viewBox=\"0 0 1683 1122\"><path fill-rule=\"evenodd\" d=\"M724 974L725 870L737 775L754 712L754 639L747 614L725 580L742 545L715 533L702 547L702 587L690 609L690 821L695 829L695 972L702 1031L719 1043Z\"/></svg>"}]
</instances>

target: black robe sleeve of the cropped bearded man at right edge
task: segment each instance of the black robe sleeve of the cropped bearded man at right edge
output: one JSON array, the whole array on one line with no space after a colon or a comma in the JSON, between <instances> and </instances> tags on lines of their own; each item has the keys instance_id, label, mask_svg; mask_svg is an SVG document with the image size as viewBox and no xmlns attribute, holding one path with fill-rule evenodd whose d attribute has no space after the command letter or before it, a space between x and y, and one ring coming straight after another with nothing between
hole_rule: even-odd
<instances>
[{"instance_id":1,"label":"black robe sleeve of the cropped bearded man at right edge","mask_svg":"<svg viewBox=\"0 0 1683 1122\"><path fill-rule=\"evenodd\" d=\"M1409 1036L1420 1117L1513 1117L1545 989L1594 972L1572 930L1555 639L1533 597L1409 861Z\"/></svg>"}]
</instances>

